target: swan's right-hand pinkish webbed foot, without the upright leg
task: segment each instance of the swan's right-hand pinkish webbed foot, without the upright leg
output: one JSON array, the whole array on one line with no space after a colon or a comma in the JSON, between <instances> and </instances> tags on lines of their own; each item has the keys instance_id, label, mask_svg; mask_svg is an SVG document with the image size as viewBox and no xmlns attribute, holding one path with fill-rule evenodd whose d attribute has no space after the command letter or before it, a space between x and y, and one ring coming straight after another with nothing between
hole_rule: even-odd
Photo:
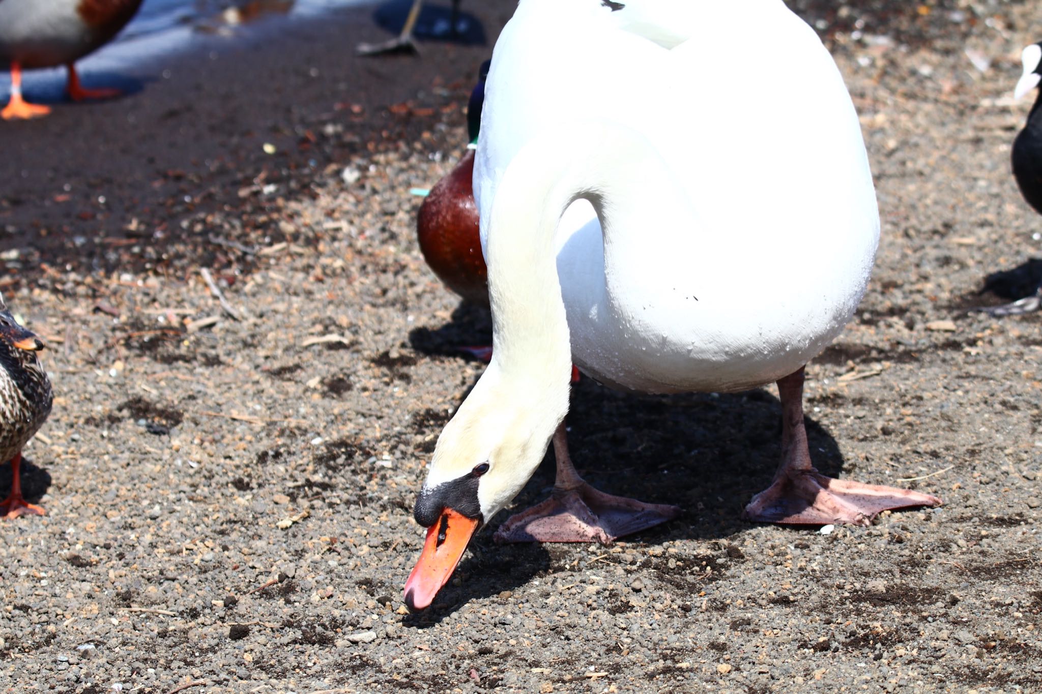
<instances>
[{"instance_id":1,"label":"swan's right-hand pinkish webbed foot, without the upright leg","mask_svg":"<svg viewBox=\"0 0 1042 694\"><path fill-rule=\"evenodd\" d=\"M941 504L937 496L909 489L835 480L815 469L793 469L753 496L742 517L768 523L868 525L882 511Z\"/></svg>"}]
</instances>

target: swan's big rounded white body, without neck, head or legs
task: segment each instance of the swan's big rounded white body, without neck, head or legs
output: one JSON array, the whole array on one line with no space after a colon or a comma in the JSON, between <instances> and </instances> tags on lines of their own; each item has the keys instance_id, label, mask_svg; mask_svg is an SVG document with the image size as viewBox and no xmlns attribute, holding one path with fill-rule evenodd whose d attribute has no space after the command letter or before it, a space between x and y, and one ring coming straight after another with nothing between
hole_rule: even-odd
<instances>
[{"instance_id":1,"label":"swan's big rounded white body, without neck, head or legs","mask_svg":"<svg viewBox=\"0 0 1042 694\"><path fill-rule=\"evenodd\" d=\"M642 134L667 175L637 177L609 201L606 254L586 200L557 226L572 359L585 372L646 392L741 390L795 371L839 334L872 266L875 195L843 80L780 0L643 0L619 11L521 0L493 53L474 169L490 284L507 166L532 140L559 145L544 148L549 158L569 156L563 133L593 120Z\"/></svg>"}]
</instances>

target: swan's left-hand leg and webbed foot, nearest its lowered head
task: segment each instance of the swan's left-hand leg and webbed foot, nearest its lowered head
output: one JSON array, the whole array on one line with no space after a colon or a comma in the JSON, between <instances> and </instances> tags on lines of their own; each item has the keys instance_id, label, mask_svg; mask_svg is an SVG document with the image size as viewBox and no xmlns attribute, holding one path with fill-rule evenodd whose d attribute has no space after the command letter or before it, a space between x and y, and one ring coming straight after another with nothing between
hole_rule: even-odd
<instances>
[{"instance_id":1,"label":"swan's left-hand leg and webbed foot, nearest its lowered head","mask_svg":"<svg viewBox=\"0 0 1042 694\"><path fill-rule=\"evenodd\" d=\"M507 518L496 531L497 542L600 542L607 544L666 522L680 509L644 504L598 491L582 481L568 456L564 422L553 434L557 478L550 498Z\"/></svg>"}]
</instances>

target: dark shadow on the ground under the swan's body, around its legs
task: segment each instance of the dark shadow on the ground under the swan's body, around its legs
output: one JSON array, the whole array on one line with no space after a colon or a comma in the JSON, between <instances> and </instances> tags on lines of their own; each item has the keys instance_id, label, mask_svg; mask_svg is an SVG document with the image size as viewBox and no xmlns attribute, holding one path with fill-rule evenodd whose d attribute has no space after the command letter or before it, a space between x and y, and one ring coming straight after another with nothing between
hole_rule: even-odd
<instances>
[{"instance_id":1,"label":"dark shadow on the ground under the swan's body, around its legs","mask_svg":"<svg viewBox=\"0 0 1042 694\"><path fill-rule=\"evenodd\" d=\"M651 543L718 540L752 525L741 519L766 489L780 460L782 406L767 390L643 395L610 390L591 379L572 389L569 448L594 487L684 509L677 520L635 536ZM836 439L805 419L811 457L829 477L845 465ZM523 510L549 493L552 455L515 499Z\"/></svg>"}]
</instances>

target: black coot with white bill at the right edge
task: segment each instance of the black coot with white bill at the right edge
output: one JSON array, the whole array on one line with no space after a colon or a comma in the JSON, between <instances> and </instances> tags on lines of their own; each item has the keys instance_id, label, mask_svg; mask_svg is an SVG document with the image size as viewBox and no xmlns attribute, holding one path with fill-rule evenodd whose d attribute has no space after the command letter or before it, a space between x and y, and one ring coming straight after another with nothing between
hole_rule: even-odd
<instances>
[{"instance_id":1,"label":"black coot with white bill at the right edge","mask_svg":"<svg viewBox=\"0 0 1042 694\"><path fill-rule=\"evenodd\" d=\"M1020 53L1023 74L1013 91L1015 99L1023 99L1042 81L1042 42L1032 44ZM1036 212L1042 214L1042 92L1027 114L1027 123L1013 140L1013 177L1020 194ZM1042 308L1042 285L1035 293L1012 304L981 309L991 315L1019 315Z\"/></svg>"}]
</instances>

